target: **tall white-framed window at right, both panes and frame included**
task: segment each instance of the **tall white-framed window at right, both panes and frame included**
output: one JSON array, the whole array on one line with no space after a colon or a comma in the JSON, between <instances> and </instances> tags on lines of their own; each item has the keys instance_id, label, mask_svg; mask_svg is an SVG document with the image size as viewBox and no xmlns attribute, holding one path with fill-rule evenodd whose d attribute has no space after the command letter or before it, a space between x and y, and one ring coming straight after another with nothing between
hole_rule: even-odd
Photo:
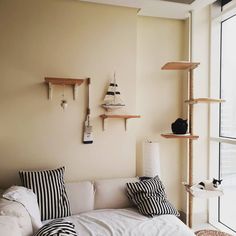
<instances>
[{"instance_id":1,"label":"tall white-framed window at right, both panes and frame included","mask_svg":"<svg viewBox=\"0 0 236 236\"><path fill-rule=\"evenodd\" d=\"M231 5L232 6L232 5ZM217 39L217 40L216 40ZM215 42L214 42L215 41ZM211 110L210 173L224 195L210 200L209 220L236 233L236 5L212 20L211 92L226 100ZM219 67L219 68L218 68Z\"/></svg>"}]
</instances>

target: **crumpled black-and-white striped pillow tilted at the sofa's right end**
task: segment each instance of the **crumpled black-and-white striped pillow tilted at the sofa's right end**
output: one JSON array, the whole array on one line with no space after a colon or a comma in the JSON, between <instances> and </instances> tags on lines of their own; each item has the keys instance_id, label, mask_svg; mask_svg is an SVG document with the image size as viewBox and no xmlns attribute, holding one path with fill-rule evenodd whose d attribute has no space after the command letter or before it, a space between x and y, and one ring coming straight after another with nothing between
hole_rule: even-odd
<instances>
[{"instance_id":1,"label":"crumpled black-and-white striped pillow tilted at the sofa's right end","mask_svg":"<svg viewBox=\"0 0 236 236\"><path fill-rule=\"evenodd\" d=\"M175 207L167 200L165 188L158 176L135 183L127 183L127 195L141 214L179 216Z\"/></svg>"}]
</instances>

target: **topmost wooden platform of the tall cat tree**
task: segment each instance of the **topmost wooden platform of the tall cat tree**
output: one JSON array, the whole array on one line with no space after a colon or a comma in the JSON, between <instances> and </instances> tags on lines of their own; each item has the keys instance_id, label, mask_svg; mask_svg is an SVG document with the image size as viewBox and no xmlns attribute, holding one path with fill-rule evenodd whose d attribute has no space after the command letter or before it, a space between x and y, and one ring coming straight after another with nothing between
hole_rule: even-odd
<instances>
[{"instance_id":1,"label":"topmost wooden platform of the tall cat tree","mask_svg":"<svg viewBox=\"0 0 236 236\"><path fill-rule=\"evenodd\" d=\"M162 66L162 70L192 70L198 67L199 62L173 61Z\"/></svg>"}]
</instances>

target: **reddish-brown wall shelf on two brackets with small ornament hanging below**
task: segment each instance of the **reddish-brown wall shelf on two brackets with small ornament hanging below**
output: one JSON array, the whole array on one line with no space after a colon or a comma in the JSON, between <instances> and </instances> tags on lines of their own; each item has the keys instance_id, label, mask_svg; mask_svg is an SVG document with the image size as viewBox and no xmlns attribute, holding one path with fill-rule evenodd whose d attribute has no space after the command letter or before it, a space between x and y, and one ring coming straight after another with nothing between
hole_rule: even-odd
<instances>
[{"instance_id":1,"label":"reddish-brown wall shelf on two brackets with small ornament hanging below","mask_svg":"<svg viewBox=\"0 0 236 236\"><path fill-rule=\"evenodd\" d=\"M48 83L48 98L52 99L53 85L73 85L74 86L74 100L77 98L77 89L84 80L83 79L72 79L72 78L55 78L45 77L45 82Z\"/></svg>"}]
</instances>

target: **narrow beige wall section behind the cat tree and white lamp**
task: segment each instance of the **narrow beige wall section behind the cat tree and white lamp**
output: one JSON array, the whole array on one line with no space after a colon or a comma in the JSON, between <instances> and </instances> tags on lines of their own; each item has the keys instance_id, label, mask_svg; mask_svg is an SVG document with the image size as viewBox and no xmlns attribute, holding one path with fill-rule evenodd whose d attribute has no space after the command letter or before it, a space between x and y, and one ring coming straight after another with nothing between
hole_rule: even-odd
<instances>
[{"instance_id":1,"label":"narrow beige wall section behind the cat tree and white lamp","mask_svg":"<svg viewBox=\"0 0 236 236\"><path fill-rule=\"evenodd\" d=\"M152 17L138 18L137 110L142 119L137 136L137 173L142 169L142 142L160 143L162 179L170 200L181 206L181 142L161 138L171 123L182 117L182 73L164 71L168 61L184 58L184 21Z\"/></svg>"}]
</instances>

